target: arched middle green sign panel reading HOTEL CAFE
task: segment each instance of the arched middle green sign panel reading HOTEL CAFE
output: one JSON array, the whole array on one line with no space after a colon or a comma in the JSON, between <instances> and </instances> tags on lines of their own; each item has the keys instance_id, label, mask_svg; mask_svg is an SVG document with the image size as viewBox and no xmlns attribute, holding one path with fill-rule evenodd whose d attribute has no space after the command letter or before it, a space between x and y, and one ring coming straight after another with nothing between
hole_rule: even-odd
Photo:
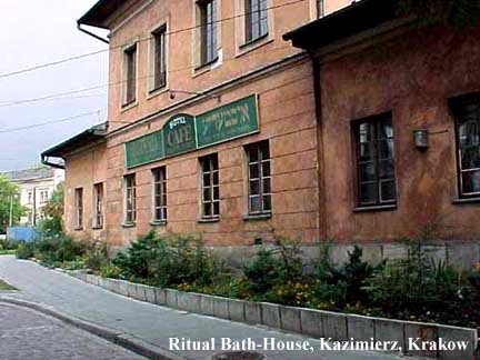
<instances>
[{"instance_id":1,"label":"arched middle green sign panel reading HOTEL CAFE","mask_svg":"<svg viewBox=\"0 0 480 360\"><path fill-rule=\"evenodd\" d=\"M171 118L163 126L166 157L197 149L194 118L180 113Z\"/></svg>"}]
</instances>

